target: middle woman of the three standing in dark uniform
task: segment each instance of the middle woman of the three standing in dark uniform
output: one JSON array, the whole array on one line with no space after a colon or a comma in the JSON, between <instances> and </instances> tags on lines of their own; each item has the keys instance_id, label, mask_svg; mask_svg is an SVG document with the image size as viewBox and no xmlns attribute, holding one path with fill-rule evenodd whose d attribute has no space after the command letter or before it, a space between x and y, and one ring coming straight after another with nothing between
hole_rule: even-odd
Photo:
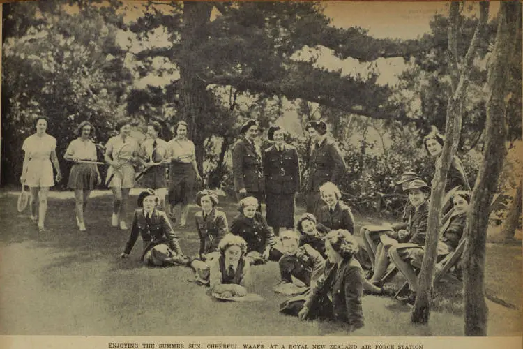
<instances>
[{"instance_id":1,"label":"middle woman of the three standing in dark uniform","mask_svg":"<svg viewBox=\"0 0 523 349\"><path fill-rule=\"evenodd\" d=\"M296 148L285 143L285 131L271 126L268 140L274 142L264 153L267 224L278 236L280 227L294 227L296 192L300 191L300 164Z\"/></svg>"}]
</instances>

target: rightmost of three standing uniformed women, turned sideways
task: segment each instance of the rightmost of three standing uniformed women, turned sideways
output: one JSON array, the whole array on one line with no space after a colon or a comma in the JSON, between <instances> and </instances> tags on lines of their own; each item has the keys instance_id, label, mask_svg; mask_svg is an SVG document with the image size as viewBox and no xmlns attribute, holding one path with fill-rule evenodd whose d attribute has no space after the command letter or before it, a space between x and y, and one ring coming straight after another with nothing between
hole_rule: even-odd
<instances>
[{"instance_id":1,"label":"rightmost of three standing uniformed women, turned sideways","mask_svg":"<svg viewBox=\"0 0 523 349\"><path fill-rule=\"evenodd\" d=\"M326 181L338 185L347 170L347 165L340 149L332 140L326 138L327 124L324 121L309 121L305 130L312 142L308 167L307 211L316 215L316 210L321 206L319 187Z\"/></svg>"}]
</instances>

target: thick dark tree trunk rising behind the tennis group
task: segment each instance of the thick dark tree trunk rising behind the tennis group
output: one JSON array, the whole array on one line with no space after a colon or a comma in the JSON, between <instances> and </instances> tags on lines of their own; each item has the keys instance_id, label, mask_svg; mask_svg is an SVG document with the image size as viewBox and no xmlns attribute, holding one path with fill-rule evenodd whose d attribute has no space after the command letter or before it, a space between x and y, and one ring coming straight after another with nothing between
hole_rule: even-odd
<instances>
[{"instance_id":1,"label":"thick dark tree trunk rising behind the tennis group","mask_svg":"<svg viewBox=\"0 0 523 349\"><path fill-rule=\"evenodd\" d=\"M188 138L195 143L196 159L202 174L204 159L204 140L202 125L210 117L207 98L207 84L198 77L202 67L198 65L196 48L208 40L206 24L211 18L213 4L200 1L183 3L183 24L181 27L181 50L178 64L180 68L180 117L189 124Z\"/></svg>"}]
</instances>

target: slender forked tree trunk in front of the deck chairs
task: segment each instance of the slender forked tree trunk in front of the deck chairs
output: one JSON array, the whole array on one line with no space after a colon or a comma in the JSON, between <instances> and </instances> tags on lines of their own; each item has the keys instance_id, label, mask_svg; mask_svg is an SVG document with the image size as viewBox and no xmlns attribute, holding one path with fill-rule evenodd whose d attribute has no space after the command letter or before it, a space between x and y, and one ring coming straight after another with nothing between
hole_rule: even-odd
<instances>
[{"instance_id":1,"label":"slender forked tree trunk in front of the deck chairs","mask_svg":"<svg viewBox=\"0 0 523 349\"><path fill-rule=\"evenodd\" d=\"M448 35L448 51L450 65L457 69L457 27L459 21L460 3L450 4L450 26ZM452 86L453 94L450 96L447 107L447 119L445 128L445 143L441 158L437 161L436 171L432 179L432 193L430 195L429 217L427 225L427 241L425 242L425 257L421 265L419 274L418 290L416 302L411 314L411 321L425 324L430 317L430 305L432 299L432 283L434 281L434 265L437 258L437 243L439 239L441 201L444 196L445 182L447 178L450 162L456 152L457 144L460 142L460 132L462 124L462 112L464 98L467 92L469 76L473 59L476 55L476 48L483 35L483 30L488 19L489 3L480 3L480 19L474 36L469 45L469 50L464 59L461 73L453 71Z\"/></svg>"}]
</instances>

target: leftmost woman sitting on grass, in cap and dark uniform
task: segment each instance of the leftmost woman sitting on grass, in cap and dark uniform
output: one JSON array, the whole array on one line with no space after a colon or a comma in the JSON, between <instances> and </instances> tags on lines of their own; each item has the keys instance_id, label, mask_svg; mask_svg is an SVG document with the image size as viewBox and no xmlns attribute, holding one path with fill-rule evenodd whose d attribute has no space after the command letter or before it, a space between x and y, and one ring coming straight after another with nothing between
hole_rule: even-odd
<instances>
[{"instance_id":1,"label":"leftmost woman sitting on grass, in cap and dark uniform","mask_svg":"<svg viewBox=\"0 0 523 349\"><path fill-rule=\"evenodd\" d=\"M142 235L144 251L142 260L148 265L187 265L188 258L181 251L178 238L174 234L167 215L156 209L158 196L151 189L138 195L138 207L132 218L132 228L126 248L120 258L128 257L135 246L138 235Z\"/></svg>"}]
</instances>

